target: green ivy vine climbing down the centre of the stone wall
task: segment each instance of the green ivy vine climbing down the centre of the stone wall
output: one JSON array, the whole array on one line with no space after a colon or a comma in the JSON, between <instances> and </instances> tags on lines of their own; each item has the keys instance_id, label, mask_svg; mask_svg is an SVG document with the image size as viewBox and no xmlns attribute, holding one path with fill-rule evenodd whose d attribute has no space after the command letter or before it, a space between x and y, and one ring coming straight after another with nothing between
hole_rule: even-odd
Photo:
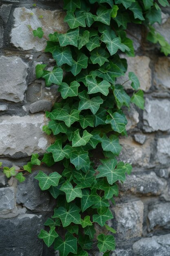
<instances>
[{"instance_id":1,"label":"green ivy vine climbing down the centre of the stone wall","mask_svg":"<svg viewBox=\"0 0 170 256\"><path fill-rule=\"evenodd\" d=\"M70 29L49 34L45 48L56 65L52 71L46 64L36 66L36 77L45 79L47 87L58 85L61 93L60 101L46 112L50 121L43 127L48 135L53 133L55 143L41 160L33 154L18 174L14 167L4 167L4 173L22 182L23 171L31 173L34 165L63 166L63 171L49 176L40 171L35 177L40 188L57 199L54 215L44 224L49 232L42 229L39 238L48 247L54 243L60 256L88 256L94 247L109 256L115 249L111 233L116 231L106 224L113 218L109 207L118 195L117 181L124 182L132 170L130 164L117 160L119 135L127 135L122 106L130 109L134 103L144 109L143 92L133 72L128 73L133 93L128 95L124 84L117 84L127 71L126 59L119 53L135 56L126 28L128 23L142 23L148 29L147 39L170 54L170 45L152 26L161 23L159 5L169 4L167 0L64 0L64 21ZM33 35L42 38L43 29L33 30ZM100 160L95 161L96 156ZM109 234L101 231L96 236L96 225Z\"/></svg>"}]
</instances>

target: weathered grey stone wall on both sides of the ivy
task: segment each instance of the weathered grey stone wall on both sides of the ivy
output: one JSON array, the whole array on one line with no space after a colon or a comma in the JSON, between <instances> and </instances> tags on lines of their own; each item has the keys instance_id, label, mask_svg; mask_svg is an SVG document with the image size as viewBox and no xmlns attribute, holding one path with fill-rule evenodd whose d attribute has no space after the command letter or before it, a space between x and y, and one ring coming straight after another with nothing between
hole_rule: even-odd
<instances>
[{"instance_id":1,"label":"weathered grey stone wall on both sides of the ivy","mask_svg":"<svg viewBox=\"0 0 170 256\"><path fill-rule=\"evenodd\" d=\"M59 0L39 0L38 9L33 3L0 2L0 161L9 167L23 166L31 153L43 154L53 141L42 126L48 122L44 111L57 100L57 86L45 88L44 81L35 78L35 65L53 64L53 59L43 51L46 40L34 38L28 25L43 27L46 36L54 28L66 31L64 11ZM162 11L163 24L155 27L170 43L170 8ZM110 224L117 230L112 256L169 256L170 57L146 42L142 27L130 26L128 36L136 50L135 58L127 58L128 70L139 77L146 104L144 112L133 105L126 111L128 137L120 139L119 159L131 163L133 171L119 184L112 208L115 219ZM0 174L0 256L54 255L37 238L55 206L50 194L40 191L37 172L22 184Z\"/></svg>"}]
</instances>

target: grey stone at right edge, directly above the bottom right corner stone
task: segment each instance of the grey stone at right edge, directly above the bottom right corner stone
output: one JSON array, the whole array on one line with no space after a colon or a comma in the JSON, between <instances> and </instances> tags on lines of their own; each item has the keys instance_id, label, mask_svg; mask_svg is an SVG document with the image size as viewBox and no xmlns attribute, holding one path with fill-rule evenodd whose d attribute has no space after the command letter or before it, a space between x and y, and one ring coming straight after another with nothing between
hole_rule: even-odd
<instances>
[{"instance_id":1,"label":"grey stone at right edge, directly above the bottom right corner stone","mask_svg":"<svg viewBox=\"0 0 170 256\"><path fill-rule=\"evenodd\" d=\"M170 203L154 204L149 213L148 219L150 222L149 231L154 227L170 228Z\"/></svg>"}]
</instances>

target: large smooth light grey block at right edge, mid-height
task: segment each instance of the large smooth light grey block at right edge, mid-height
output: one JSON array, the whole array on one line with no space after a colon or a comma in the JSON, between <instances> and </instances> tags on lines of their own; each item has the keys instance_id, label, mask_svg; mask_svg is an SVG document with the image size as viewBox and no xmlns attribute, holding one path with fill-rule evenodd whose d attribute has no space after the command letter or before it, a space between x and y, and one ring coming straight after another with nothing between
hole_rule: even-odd
<instances>
[{"instance_id":1,"label":"large smooth light grey block at right edge, mid-height","mask_svg":"<svg viewBox=\"0 0 170 256\"><path fill-rule=\"evenodd\" d=\"M157 130L166 131L170 129L170 101L146 99L144 118L144 130L153 132Z\"/></svg>"}]
</instances>

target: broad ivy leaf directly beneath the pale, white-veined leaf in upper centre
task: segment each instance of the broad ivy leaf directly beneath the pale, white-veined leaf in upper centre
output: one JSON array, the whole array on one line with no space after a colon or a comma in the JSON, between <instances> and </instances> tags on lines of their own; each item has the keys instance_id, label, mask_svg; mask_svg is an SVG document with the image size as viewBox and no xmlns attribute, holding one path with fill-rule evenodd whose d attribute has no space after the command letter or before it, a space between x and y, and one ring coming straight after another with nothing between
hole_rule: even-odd
<instances>
[{"instance_id":1,"label":"broad ivy leaf directly beneath the pale, white-veined leaf in upper centre","mask_svg":"<svg viewBox=\"0 0 170 256\"><path fill-rule=\"evenodd\" d=\"M78 96L80 99L78 109L79 110L90 109L94 115L99 109L100 104L103 103L103 100L98 96L90 99L90 97L88 96L85 90L83 92L80 92Z\"/></svg>"}]
</instances>

